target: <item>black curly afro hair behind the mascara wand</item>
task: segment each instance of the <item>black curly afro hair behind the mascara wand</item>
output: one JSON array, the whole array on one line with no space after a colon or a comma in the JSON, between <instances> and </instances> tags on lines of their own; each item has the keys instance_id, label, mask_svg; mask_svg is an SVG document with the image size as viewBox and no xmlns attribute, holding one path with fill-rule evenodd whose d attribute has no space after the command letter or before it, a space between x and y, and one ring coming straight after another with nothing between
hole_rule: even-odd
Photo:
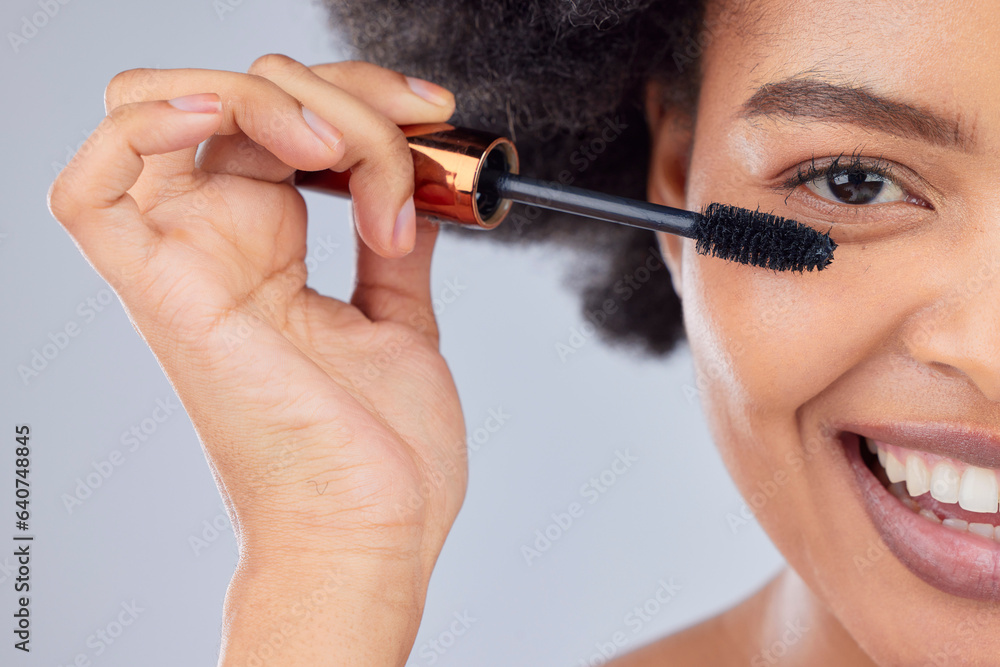
<instances>
[{"instance_id":1,"label":"black curly afro hair behind the mascara wand","mask_svg":"<svg viewBox=\"0 0 1000 667\"><path fill-rule=\"evenodd\" d=\"M694 109L700 1L324 2L350 57L445 86L456 98L451 122L509 136L521 172L536 178L645 199L646 82L664 84L664 104ZM521 204L490 232L445 228L572 246L589 261L567 280L605 341L662 355L683 338L653 232Z\"/></svg>"}]
</instances>

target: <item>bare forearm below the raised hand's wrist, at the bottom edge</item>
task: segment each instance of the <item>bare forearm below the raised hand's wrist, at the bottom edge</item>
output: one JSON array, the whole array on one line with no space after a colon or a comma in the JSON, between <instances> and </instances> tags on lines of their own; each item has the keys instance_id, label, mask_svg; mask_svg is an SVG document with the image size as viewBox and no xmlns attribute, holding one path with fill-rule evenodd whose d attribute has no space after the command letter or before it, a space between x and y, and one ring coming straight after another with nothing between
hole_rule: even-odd
<instances>
[{"instance_id":1,"label":"bare forearm below the raised hand's wrist, at the bottom edge","mask_svg":"<svg viewBox=\"0 0 1000 667\"><path fill-rule=\"evenodd\" d=\"M241 558L226 594L220 667L406 662L429 572L418 558Z\"/></svg>"}]
</instances>

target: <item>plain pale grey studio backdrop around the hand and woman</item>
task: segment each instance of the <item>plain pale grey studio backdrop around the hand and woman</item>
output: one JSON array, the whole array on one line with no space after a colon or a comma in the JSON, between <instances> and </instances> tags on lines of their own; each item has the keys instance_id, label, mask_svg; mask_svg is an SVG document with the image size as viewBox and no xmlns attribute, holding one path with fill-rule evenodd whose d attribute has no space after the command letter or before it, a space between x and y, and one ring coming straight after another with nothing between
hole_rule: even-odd
<instances>
[{"instance_id":1,"label":"plain pale grey studio backdrop around the hand and woman","mask_svg":"<svg viewBox=\"0 0 1000 667\"><path fill-rule=\"evenodd\" d=\"M104 87L121 70L245 71L268 52L306 63L341 56L308 0L4 0L0 30L0 665L70 665L80 655L101 666L213 665L232 532L187 416L153 419L164 415L158 402L176 398L45 194L103 117ZM12 43L11 33L30 37ZM306 197L310 283L346 296L349 205ZM507 416L471 452L468 496L410 665L591 664L616 633L620 654L731 605L781 566L752 519L728 520L743 502L708 437L686 351L632 358L585 338L560 359L556 344L583 325L562 283L571 260L551 247L439 242L443 351L470 434L491 410ZM78 335L25 383L18 366L73 324ZM12 646L19 423L33 434L29 655ZM144 440L124 445L132 427ZM115 450L120 465L67 509ZM606 492L585 495L626 450L636 461ZM582 516L527 563L521 547L573 502ZM661 604L664 583L674 592ZM123 605L131 625L112 644L98 639L117 633Z\"/></svg>"}]
</instances>

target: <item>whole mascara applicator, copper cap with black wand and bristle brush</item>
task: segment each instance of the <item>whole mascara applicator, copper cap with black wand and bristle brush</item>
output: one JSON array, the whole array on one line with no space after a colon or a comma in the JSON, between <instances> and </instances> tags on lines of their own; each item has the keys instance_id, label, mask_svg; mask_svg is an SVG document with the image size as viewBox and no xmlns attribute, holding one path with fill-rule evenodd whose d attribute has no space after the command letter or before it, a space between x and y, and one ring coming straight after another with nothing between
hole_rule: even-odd
<instances>
[{"instance_id":1,"label":"whole mascara applicator, copper cap with black wand and bristle brush","mask_svg":"<svg viewBox=\"0 0 1000 667\"><path fill-rule=\"evenodd\" d=\"M492 229L518 201L685 236L702 254L775 271L822 270L837 247L828 233L769 213L724 204L696 213L520 176L505 137L445 123L400 129L413 153L414 204L437 220ZM299 171L295 184L349 195L349 180L350 172Z\"/></svg>"}]
</instances>

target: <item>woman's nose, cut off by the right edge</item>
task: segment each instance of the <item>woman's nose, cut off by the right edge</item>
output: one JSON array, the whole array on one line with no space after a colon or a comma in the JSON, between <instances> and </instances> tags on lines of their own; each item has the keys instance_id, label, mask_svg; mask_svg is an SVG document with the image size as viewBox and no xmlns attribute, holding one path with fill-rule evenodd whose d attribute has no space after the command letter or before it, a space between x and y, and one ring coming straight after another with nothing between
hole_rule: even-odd
<instances>
[{"instance_id":1,"label":"woman's nose, cut off by the right edge","mask_svg":"<svg viewBox=\"0 0 1000 667\"><path fill-rule=\"evenodd\" d=\"M978 259L956 278L914 316L907 347L916 361L1000 402L1000 256Z\"/></svg>"}]
</instances>

